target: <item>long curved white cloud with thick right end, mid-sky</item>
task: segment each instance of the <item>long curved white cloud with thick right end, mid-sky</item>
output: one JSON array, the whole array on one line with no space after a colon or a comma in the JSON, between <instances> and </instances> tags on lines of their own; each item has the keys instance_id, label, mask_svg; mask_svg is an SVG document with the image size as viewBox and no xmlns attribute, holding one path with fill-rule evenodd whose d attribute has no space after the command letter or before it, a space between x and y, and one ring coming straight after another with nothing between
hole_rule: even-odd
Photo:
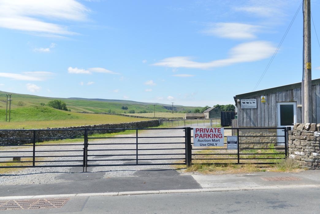
<instances>
[{"instance_id":1,"label":"long curved white cloud with thick right end, mid-sky","mask_svg":"<svg viewBox=\"0 0 320 214\"><path fill-rule=\"evenodd\" d=\"M233 47L230 50L230 57L227 59L213 60L211 62L195 62L187 56L176 56L165 58L154 63L156 66L172 67L172 68L196 68L209 69L215 67L223 67L241 62L255 62L270 57L275 47L266 41L254 41L243 43Z\"/></svg>"}]
</instances>

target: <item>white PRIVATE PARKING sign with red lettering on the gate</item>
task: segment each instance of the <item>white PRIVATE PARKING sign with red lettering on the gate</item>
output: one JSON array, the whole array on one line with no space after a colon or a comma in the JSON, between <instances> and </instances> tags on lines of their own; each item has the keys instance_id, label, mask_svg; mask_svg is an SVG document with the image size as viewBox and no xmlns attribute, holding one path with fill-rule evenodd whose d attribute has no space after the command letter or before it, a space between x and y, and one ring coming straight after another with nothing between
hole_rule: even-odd
<instances>
[{"instance_id":1,"label":"white PRIVATE PARKING sign with red lettering on the gate","mask_svg":"<svg viewBox=\"0 0 320 214\"><path fill-rule=\"evenodd\" d=\"M194 128L193 146L223 146L223 128Z\"/></svg>"}]
</instances>

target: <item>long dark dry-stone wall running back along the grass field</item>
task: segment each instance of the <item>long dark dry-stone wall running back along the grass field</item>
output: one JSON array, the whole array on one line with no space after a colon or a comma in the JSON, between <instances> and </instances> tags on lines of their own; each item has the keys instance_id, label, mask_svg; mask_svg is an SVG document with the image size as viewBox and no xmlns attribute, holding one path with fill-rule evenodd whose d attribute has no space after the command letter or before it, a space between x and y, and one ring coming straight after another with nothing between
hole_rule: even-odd
<instances>
[{"instance_id":1,"label":"long dark dry-stone wall running back along the grass field","mask_svg":"<svg viewBox=\"0 0 320 214\"><path fill-rule=\"evenodd\" d=\"M53 139L43 139L52 137L82 137L84 136L83 130L68 130L68 129L84 129L84 128L149 128L159 126L159 120L145 120L136 121L130 123L108 123L98 125L85 125L85 126L74 126L64 128L47 128L47 129L35 129L36 130L36 142L49 141ZM59 129L59 130L52 130ZM105 134L105 133L116 133L121 130L88 130L88 135L92 134ZM0 131L0 145L10 144L30 144L33 143L33 139L13 139L13 138L33 138L33 130L23 129L17 131ZM12 138L12 139L2 139Z\"/></svg>"}]
</instances>

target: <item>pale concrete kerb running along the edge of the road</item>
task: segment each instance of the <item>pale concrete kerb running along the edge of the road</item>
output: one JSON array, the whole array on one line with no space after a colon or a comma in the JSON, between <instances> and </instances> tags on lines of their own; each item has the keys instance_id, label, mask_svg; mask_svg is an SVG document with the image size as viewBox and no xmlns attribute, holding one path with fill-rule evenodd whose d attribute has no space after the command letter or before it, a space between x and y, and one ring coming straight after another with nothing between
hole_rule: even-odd
<instances>
[{"instance_id":1,"label":"pale concrete kerb running along the edge of the road","mask_svg":"<svg viewBox=\"0 0 320 214\"><path fill-rule=\"evenodd\" d=\"M278 185L278 186L254 186L254 187L227 187L227 188L204 188L204 189L179 189L179 190L152 190L132 191L114 193L78 193L78 194L55 194L55 195L26 195L26 196L5 196L0 200L30 199L30 198L52 198L72 196L124 196L143 194L164 194L164 193L200 193L200 192L225 192L225 191L246 191L246 190L270 190L270 189L296 189L296 188L320 188L320 185Z\"/></svg>"}]
</instances>

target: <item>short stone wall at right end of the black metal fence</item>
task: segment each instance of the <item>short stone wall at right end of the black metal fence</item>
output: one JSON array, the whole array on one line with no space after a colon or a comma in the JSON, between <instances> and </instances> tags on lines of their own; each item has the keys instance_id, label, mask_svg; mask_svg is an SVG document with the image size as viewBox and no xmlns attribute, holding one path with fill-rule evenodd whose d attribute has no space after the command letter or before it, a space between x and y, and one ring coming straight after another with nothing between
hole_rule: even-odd
<instances>
[{"instance_id":1,"label":"short stone wall at right end of the black metal fence","mask_svg":"<svg viewBox=\"0 0 320 214\"><path fill-rule=\"evenodd\" d=\"M320 124L297 123L288 132L289 158L308 169L320 169Z\"/></svg>"}]
</instances>

